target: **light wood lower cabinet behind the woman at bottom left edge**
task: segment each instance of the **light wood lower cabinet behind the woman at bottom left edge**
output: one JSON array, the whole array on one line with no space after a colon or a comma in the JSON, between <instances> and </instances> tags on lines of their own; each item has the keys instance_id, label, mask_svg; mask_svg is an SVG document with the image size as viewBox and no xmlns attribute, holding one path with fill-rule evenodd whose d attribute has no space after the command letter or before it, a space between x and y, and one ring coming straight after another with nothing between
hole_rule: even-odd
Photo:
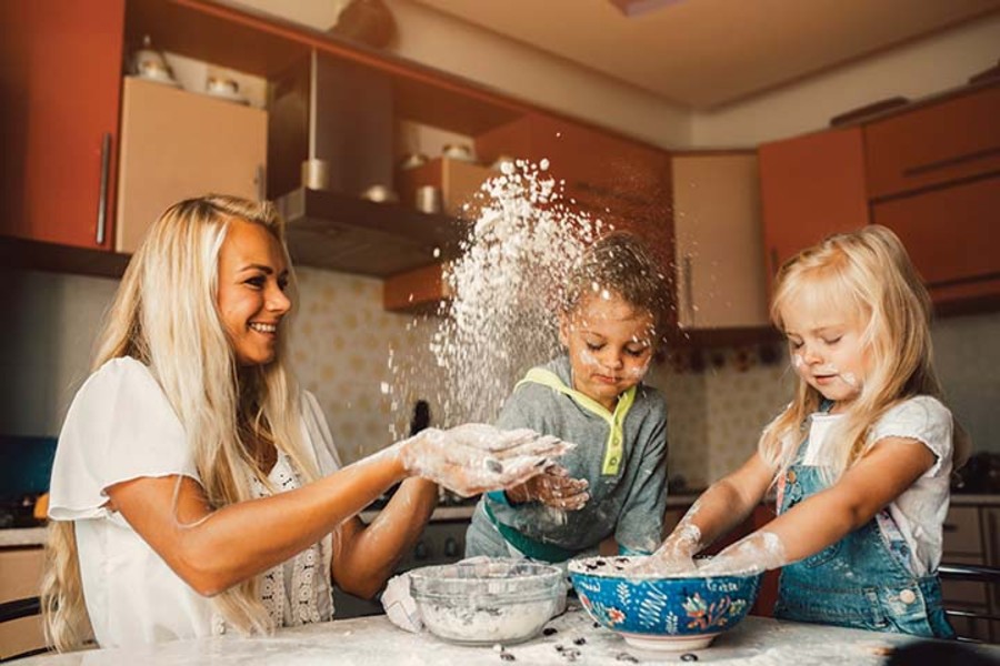
<instances>
[{"instance_id":1,"label":"light wood lower cabinet behind the woman at bottom left edge","mask_svg":"<svg viewBox=\"0 0 1000 666\"><path fill-rule=\"evenodd\" d=\"M0 603L38 596L43 563L41 547L0 549ZM44 644L40 615L0 624L0 660Z\"/></svg>"}]
</instances>

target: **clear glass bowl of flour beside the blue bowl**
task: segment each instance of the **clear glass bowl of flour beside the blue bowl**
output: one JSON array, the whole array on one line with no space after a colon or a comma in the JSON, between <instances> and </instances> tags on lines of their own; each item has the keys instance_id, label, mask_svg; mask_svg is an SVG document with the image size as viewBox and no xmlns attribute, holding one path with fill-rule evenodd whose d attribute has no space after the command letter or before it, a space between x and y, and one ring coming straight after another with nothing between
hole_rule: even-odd
<instances>
[{"instance_id":1,"label":"clear glass bowl of flour beside the blue bowl","mask_svg":"<svg viewBox=\"0 0 1000 666\"><path fill-rule=\"evenodd\" d=\"M413 569L424 626L451 643L512 644L538 634L566 594L563 573L523 559L483 558Z\"/></svg>"}]
</instances>

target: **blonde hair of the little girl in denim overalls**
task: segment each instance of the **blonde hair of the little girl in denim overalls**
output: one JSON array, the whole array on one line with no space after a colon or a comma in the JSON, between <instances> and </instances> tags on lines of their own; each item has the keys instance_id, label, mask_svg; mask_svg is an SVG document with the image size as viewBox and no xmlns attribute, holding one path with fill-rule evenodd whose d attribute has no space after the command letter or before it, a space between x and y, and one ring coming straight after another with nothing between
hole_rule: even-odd
<instances>
[{"instance_id":1,"label":"blonde hair of the little girl in denim overalls","mask_svg":"<svg viewBox=\"0 0 1000 666\"><path fill-rule=\"evenodd\" d=\"M833 482L873 445L869 428L890 407L916 395L942 397L933 365L931 301L899 238L877 224L832 235L781 266L771 299L771 321L779 331L784 331L788 303L807 291L810 299L867 322L862 344L871 370L831 435L824 472ZM764 428L759 448L779 470L777 477L792 463L804 440L802 425L821 400L819 391L800 380L791 404ZM968 455L969 440L957 422L953 442L958 467Z\"/></svg>"}]
</instances>

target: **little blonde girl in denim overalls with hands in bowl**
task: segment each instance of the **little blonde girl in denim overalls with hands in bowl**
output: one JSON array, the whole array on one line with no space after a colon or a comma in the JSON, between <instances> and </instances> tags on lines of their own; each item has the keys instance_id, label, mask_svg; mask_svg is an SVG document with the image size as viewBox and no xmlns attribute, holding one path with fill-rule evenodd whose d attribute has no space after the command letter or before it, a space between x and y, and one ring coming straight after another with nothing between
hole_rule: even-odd
<instances>
[{"instance_id":1,"label":"little blonde girl in denim overalls with hands in bowl","mask_svg":"<svg viewBox=\"0 0 1000 666\"><path fill-rule=\"evenodd\" d=\"M949 476L968 442L939 401L930 311L883 226L831 236L787 262L771 316L799 375L796 398L641 569L691 569L692 556L777 483L779 516L702 573L783 567L776 617L952 636L936 569Z\"/></svg>"}]
</instances>

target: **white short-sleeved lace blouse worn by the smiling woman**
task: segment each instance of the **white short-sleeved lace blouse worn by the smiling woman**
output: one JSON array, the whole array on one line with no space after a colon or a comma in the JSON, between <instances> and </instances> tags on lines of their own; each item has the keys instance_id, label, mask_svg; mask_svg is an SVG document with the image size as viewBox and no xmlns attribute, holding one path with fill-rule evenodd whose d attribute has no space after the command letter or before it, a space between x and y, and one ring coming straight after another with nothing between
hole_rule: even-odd
<instances>
[{"instance_id":1,"label":"white short-sleeved lace blouse worn by the smiling woman","mask_svg":"<svg viewBox=\"0 0 1000 666\"><path fill-rule=\"evenodd\" d=\"M316 398L302 394L302 433L322 474L340 467ZM142 476L199 481L180 421L149 369L114 359L73 398L56 451L49 517L74 521L83 597L101 647L158 643L226 630L210 599L189 587L104 504L104 488ZM283 454L269 475L283 492L300 480ZM267 490L251 481L258 496ZM247 538L253 538L248 534ZM331 538L260 578L261 601L279 626L329 619Z\"/></svg>"}]
</instances>

